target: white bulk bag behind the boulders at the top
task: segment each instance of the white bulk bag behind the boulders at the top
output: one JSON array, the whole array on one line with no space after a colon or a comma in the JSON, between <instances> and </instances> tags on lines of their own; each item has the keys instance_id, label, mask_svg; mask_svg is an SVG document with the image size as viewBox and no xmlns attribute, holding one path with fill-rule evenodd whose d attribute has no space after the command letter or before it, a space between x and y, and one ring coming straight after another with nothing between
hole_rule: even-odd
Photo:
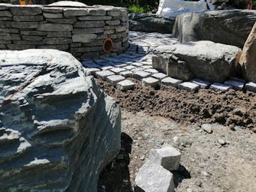
<instances>
[{"instance_id":1,"label":"white bulk bag behind the boulders at the top","mask_svg":"<svg viewBox=\"0 0 256 192\"><path fill-rule=\"evenodd\" d=\"M211 10L214 9L214 6L212 7L209 0L207 0L207 3L204 0L159 0L158 12L156 14L163 17L176 17L182 13L207 10L207 4Z\"/></svg>"}]
</instances>

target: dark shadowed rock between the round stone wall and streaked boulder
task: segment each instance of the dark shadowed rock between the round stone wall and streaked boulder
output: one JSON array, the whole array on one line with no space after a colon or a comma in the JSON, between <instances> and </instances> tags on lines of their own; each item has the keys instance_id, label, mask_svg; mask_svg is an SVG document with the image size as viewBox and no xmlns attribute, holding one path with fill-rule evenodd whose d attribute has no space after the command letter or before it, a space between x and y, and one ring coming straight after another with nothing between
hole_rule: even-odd
<instances>
[{"instance_id":1,"label":"dark shadowed rock between the round stone wall and streaked boulder","mask_svg":"<svg viewBox=\"0 0 256 192\"><path fill-rule=\"evenodd\" d=\"M159 17L152 13L129 13L131 31L172 33L175 18Z\"/></svg>"}]
</instances>

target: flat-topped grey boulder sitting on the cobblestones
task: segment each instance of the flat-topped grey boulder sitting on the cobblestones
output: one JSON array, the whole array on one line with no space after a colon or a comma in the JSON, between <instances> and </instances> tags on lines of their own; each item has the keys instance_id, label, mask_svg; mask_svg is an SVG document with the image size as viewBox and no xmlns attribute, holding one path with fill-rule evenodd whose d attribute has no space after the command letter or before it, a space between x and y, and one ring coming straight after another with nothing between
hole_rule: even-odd
<instances>
[{"instance_id":1,"label":"flat-topped grey boulder sitting on the cobblestones","mask_svg":"<svg viewBox=\"0 0 256 192\"><path fill-rule=\"evenodd\" d=\"M236 66L236 46L209 40L158 46L152 57L153 68L169 77L185 81L199 78L209 82L224 82L239 73Z\"/></svg>"}]
</instances>

